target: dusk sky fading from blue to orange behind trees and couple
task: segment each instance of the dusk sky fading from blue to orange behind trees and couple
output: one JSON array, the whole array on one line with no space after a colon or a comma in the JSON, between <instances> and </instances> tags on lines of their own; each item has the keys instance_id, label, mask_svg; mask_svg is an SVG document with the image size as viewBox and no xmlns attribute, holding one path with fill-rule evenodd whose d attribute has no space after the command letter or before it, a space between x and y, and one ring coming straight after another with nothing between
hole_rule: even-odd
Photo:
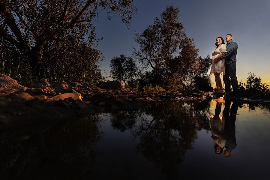
<instances>
[{"instance_id":1,"label":"dusk sky fading from blue to orange behind trees and couple","mask_svg":"<svg viewBox=\"0 0 270 180\"><path fill-rule=\"evenodd\" d=\"M270 1L268 0L134 0L139 7L138 16L132 19L127 29L121 19L107 19L100 12L95 22L98 37L103 40L98 47L104 52L101 69L110 71L110 61L121 54L131 55L134 31L143 32L152 25L155 17L173 5L180 10L180 22L184 25L189 38L194 38L199 55L206 57L215 48L215 39L227 33L233 35L238 44L237 77L245 82L247 73L260 76L270 85ZM212 78L214 82L214 77ZM213 85L215 86L215 85Z\"/></svg>"}]
</instances>

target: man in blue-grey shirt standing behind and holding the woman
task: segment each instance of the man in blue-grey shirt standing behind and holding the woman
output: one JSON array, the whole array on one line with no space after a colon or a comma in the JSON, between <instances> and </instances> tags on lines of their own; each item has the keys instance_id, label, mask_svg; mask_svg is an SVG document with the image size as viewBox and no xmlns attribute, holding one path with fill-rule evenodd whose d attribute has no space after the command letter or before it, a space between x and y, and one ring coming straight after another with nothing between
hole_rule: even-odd
<instances>
[{"instance_id":1,"label":"man in blue-grey shirt standing behind and holding the woman","mask_svg":"<svg viewBox=\"0 0 270 180\"><path fill-rule=\"evenodd\" d=\"M236 93L238 93L239 89L236 77L236 54L238 45L234 41L232 41L231 34L227 34L225 39L227 42L227 52L221 58L217 59L217 61L225 58L225 75L223 75L225 94L228 95L228 93L233 90L230 94L235 95ZM230 84L232 85L232 89Z\"/></svg>"}]
</instances>

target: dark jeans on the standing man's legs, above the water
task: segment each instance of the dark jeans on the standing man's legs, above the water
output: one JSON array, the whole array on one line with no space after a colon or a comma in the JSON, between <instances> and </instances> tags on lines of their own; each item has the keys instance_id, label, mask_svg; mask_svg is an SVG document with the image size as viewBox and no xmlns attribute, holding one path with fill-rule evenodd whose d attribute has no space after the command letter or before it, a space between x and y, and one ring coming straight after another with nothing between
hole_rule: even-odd
<instances>
[{"instance_id":1,"label":"dark jeans on the standing man's legs, above the water","mask_svg":"<svg viewBox=\"0 0 270 180\"><path fill-rule=\"evenodd\" d=\"M231 82L230 82L231 77ZM239 89L237 77L236 77L236 62L225 65L225 75L223 75L223 81L225 84L225 91L237 91ZM231 85L232 89L231 89Z\"/></svg>"}]
</instances>

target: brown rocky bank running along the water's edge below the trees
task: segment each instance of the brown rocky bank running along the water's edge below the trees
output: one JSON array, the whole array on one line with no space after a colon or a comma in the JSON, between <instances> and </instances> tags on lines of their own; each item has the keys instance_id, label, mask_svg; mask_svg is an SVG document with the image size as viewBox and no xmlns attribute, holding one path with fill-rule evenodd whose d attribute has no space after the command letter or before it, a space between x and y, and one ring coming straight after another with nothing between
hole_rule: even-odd
<instances>
[{"instance_id":1,"label":"brown rocky bank running along the water's edge below the trees","mask_svg":"<svg viewBox=\"0 0 270 180\"><path fill-rule=\"evenodd\" d=\"M33 128L46 130L48 125L61 124L90 113L139 110L161 101L206 98L215 97L210 92L194 88L175 92L130 92L101 89L86 82L49 83L46 79L20 85L9 76L0 74L0 141L14 131L19 134L22 128L23 133L29 129L26 134L31 134ZM263 98L270 99L269 95Z\"/></svg>"}]
</instances>

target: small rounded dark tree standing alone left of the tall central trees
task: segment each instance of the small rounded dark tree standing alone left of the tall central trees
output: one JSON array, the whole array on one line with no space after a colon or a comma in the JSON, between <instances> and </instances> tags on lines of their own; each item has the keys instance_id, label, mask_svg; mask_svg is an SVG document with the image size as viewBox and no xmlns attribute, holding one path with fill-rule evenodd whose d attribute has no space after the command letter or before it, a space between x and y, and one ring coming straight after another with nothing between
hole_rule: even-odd
<instances>
[{"instance_id":1,"label":"small rounded dark tree standing alone left of the tall central trees","mask_svg":"<svg viewBox=\"0 0 270 180\"><path fill-rule=\"evenodd\" d=\"M124 81L125 84L136 75L137 71L135 61L131 57L126 57L123 54L120 55L120 57L114 57L110 67L113 79Z\"/></svg>"}]
</instances>

